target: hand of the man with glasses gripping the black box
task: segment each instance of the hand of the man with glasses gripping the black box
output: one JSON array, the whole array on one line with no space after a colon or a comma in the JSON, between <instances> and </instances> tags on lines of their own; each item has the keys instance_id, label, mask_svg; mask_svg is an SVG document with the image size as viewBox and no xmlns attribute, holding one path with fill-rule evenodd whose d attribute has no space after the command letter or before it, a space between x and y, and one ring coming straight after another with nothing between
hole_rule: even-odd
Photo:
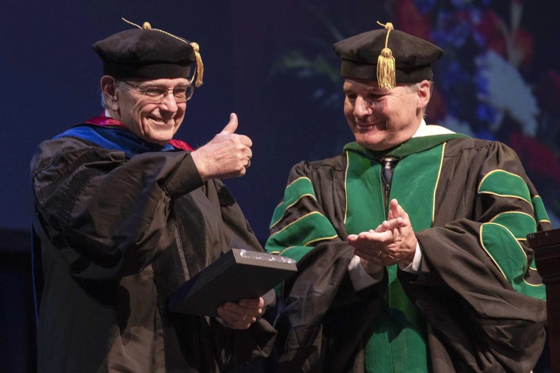
<instances>
[{"instance_id":1,"label":"hand of the man with glasses gripping the black box","mask_svg":"<svg viewBox=\"0 0 560 373\"><path fill-rule=\"evenodd\" d=\"M230 328L247 329L263 313L264 300L241 299L239 302L226 302L218 307L218 316Z\"/></svg>"}]
</instances>

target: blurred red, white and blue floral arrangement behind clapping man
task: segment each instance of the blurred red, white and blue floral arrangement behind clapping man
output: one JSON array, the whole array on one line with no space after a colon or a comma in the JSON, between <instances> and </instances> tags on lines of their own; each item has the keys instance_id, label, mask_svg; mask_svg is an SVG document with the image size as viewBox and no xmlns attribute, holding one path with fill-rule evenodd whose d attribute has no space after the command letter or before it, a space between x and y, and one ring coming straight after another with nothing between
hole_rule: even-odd
<instances>
[{"instance_id":1,"label":"blurred red, white and blue floral arrangement behind clapping man","mask_svg":"<svg viewBox=\"0 0 560 373\"><path fill-rule=\"evenodd\" d=\"M523 4L507 2L509 19L491 0L393 0L395 28L445 50L434 66L435 90L427 122L471 137L504 142L520 156L543 197L553 227L560 227L560 74L543 71L528 82L534 37L521 25ZM272 74L323 78L311 99L339 110L340 61L332 44L344 36L318 8L306 8L330 37L300 35L284 51ZM348 35L349 36L349 35ZM337 103L334 104L333 103Z\"/></svg>"}]
</instances>

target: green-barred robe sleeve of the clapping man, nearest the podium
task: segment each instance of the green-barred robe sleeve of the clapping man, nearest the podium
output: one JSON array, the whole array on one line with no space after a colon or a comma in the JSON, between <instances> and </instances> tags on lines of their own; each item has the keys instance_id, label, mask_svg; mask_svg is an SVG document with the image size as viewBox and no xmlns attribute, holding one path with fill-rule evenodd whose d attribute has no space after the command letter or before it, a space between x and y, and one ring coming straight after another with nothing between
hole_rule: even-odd
<instances>
[{"instance_id":1,"label":"green-barred robe sleeve of the clapping man, nearest the podium","mask_svg":"<svg viewBox=\"0 0 560 373\"><path fill-rule=\"evenodd\" d=\"M467 174L464 190L438 190L436 202L453 210L446 194L472 194L460 202L471 216L445 222L436 213L432 228L416 232L421 272L398 275L433 329L435 371L529 372L543 350L547 315L525 237L550 222L513 150L489 142L469 162L467 171L454 169Z\"/></svg>"}]
</instances>

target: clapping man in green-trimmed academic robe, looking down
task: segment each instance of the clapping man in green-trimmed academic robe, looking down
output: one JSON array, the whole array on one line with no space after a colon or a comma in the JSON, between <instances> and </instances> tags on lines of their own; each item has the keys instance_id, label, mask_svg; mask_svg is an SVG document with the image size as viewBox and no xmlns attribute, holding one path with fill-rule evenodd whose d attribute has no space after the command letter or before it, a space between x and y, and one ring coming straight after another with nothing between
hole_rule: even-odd
<instances>
[{"instance_id":1,"label":"clapping man in green-trimmed academic robe, looking down","mask_svg":"<svg viewBox=\"0 0 560 373\"><path fill-rule=\"evenodd\" d=\"M424 122L444 52L393 30L334 45L356 142L300 162L268 252L281 287L282 372L529 372L545 291L525 236L549 229L514 151Z\"/></svg>"}]
</instances>

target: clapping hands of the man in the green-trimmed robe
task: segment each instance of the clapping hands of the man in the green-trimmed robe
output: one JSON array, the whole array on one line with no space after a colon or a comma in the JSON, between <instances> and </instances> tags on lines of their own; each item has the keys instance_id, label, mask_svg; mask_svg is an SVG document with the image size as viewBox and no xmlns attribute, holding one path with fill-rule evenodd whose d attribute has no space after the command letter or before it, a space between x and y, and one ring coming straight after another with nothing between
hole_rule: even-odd
<instances>
[{"instance_id":1,"label":"clapping hands of the man in the green-trimmed robe","mask_svg":"<svg viewBox=\"0 0 560 373\"><path fill-rule=\"evenodd\" d=\"M388 221L375 231L349 235L348 245L354 247L354 254L377 265L409 265L414 259L417 240L410 225L408 214L391 200Z\"/></svg>"}]
</instances>

